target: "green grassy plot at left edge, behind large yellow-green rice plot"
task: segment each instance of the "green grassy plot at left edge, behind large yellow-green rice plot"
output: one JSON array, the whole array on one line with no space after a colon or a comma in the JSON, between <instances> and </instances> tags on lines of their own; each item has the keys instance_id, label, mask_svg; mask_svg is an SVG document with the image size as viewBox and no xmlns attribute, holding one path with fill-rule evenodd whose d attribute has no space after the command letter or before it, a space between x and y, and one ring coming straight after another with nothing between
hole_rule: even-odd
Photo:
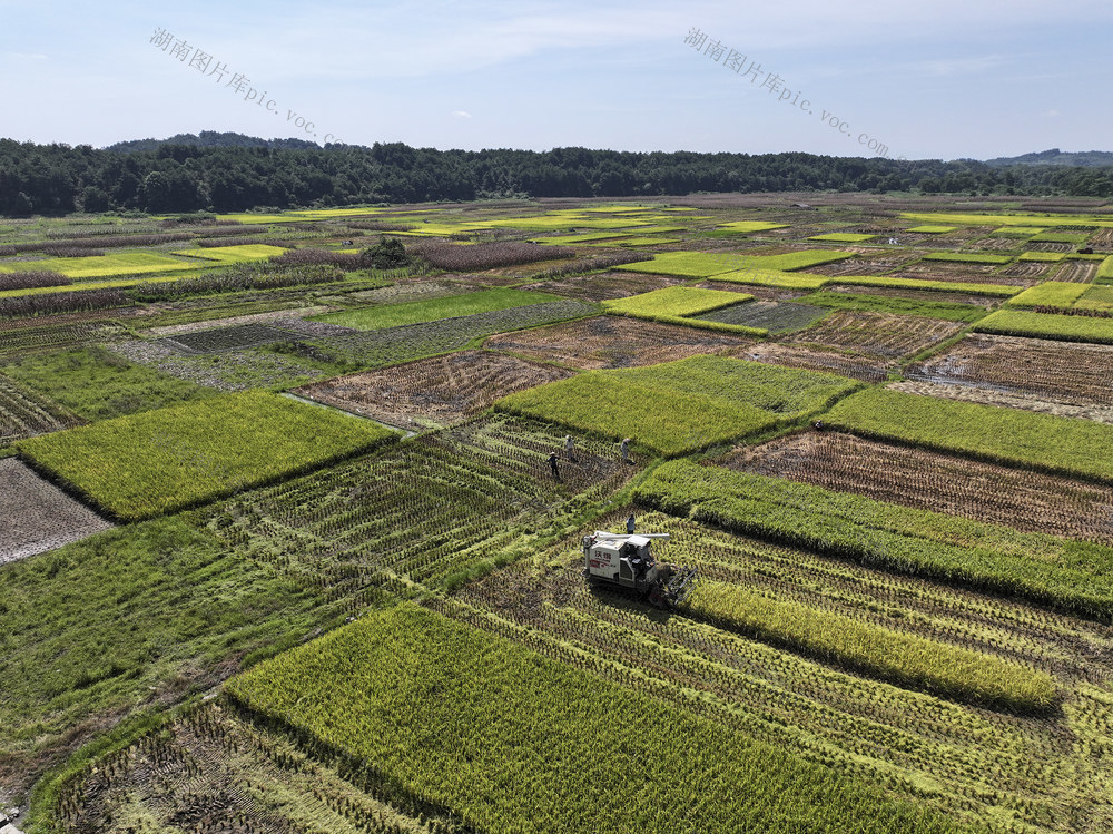
<instances>
[{"instance_id":1,"label":"green grassy plot at left edge, behind large yellow-green rice plot","mask_svg":"<svg viewBox=\"0 0 1113 834\"><path fill-rule=\"evenodd\" d=\"M108 420L217 394L99 346L17 354L3 372L86 420Z\"/></svg>"}]
</instances>

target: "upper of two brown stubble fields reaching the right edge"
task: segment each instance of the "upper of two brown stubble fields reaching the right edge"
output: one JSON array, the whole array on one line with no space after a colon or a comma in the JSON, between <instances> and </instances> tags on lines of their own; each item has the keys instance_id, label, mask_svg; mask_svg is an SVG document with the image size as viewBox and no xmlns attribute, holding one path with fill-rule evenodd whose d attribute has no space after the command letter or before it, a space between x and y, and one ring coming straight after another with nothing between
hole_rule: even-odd
<instances>
[{"instance_id":1,"label":"upper of two brown stubble fields reaching the right edge","mask_svg":"<svg viewBox=\"0 0 1113 834\"><path fill-rule=\"evenodd\" d=\"M1113 405L1113 346L972 333L910 365L909 380L1033 395L1070 405Z\"/></svg>"}]
</instances>

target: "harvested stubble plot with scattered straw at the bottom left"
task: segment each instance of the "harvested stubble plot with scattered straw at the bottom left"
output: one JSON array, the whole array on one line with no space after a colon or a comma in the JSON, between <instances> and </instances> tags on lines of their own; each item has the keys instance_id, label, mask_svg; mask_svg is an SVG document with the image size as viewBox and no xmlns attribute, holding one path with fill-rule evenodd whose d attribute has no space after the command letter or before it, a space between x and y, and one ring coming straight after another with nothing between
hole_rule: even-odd
<instances>
[{"instance_id":1,"label":"harvested stubble plot with scattered straw at the bottom left","mask_svg":"<svg viewBox=\"0 0 1113 834\"><path fill-rule=\"evenodd\" d=\"M319 750L317 752L319 754ZM407 814L368 793L339 759L299 747L228 704L208 704L111 754L61 797L67 831L450 834L429 808Z\"/></svg>"}]
</instances>

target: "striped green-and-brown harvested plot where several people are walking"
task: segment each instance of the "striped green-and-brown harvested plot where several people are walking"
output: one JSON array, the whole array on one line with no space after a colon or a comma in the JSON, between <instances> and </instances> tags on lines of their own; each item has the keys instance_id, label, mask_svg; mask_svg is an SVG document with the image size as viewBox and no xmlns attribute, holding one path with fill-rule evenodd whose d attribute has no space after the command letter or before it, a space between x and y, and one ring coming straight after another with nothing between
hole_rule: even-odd
<instances>
[{"instance_id":1,"label":"striped green-and-brown harvested plot where several people are walking","mask_svg":"<svg viewBox=\"0 0 1113 834\"><path fill-rule=\"evenodd\" d=\"M351 420L351 418L346 418ZM313 578L351 600L368 585L405 577L459 581L508 552L575 496L602 500L636 472L613 443L505 418L467 423L396 449L236 496L213 527L245 555ZM546 459L559 451L560 481Z\"/></svg>"}]
</instances>

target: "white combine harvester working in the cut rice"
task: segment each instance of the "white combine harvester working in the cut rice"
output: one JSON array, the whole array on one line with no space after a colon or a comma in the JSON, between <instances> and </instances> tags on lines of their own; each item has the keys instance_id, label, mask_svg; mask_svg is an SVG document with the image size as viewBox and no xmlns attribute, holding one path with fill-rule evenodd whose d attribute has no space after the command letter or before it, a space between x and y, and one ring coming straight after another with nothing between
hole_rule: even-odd
<instances>
[{"instance_id":1,"label":"white combine harvester working in the cut rice","mask_svg":"<svg viewBox=\"0 0 1113 834\"><path fill-rule=\"evenodd\" d=\"M658 608L679 607L696 585L696 569L656 561L649 551L652 539L668 541L669 534L595 530L594 536L584 536L583 576L591 585L626 590Z\"/></svg>"}]
</instances>

